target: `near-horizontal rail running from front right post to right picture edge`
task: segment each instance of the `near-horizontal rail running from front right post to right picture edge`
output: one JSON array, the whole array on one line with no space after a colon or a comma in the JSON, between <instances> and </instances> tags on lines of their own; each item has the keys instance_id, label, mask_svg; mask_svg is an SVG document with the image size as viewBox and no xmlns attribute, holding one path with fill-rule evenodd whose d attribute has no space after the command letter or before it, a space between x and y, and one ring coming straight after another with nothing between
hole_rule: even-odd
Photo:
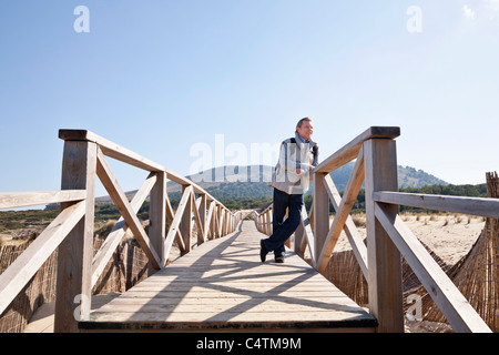
<instances>
[{"instance_id":1,"label":"near-horizontal rail running from front right post to right picture edge","mask_svg":"<svg viewBox=\"0 0 499 355\"><path fill-rule=\"evenodd\" d=\"M390 191L376 191L373 193L373 199L376 202L499 219L499 199L428 195Z\"/></svg>"}]
</instances>

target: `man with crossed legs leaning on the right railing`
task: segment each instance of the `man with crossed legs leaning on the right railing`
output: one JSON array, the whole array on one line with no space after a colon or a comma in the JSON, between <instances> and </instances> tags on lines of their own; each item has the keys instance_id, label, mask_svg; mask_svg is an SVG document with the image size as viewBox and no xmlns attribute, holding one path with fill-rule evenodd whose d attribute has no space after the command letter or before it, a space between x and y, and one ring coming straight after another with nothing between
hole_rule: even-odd
<instances>
[{"instance_id":1,"label":"man with crossed legs leaning on the right railing","mask_svg":"<svg viewBox=\"0 0 499 355\"><path fill-rule=\"evenodd\" d=\"M301 223L303 195L308 190L310 172L318 162L318 146L310 139L313 133L312 119L304 118L296 124L295 136L281 144L279 160L268 184L274 187L273 233L261 241L262 262L269 252L274 252L275 262L284 263L284 243ZM284 221L286 209L288 214Z\"/></svg>"}]
</instances>

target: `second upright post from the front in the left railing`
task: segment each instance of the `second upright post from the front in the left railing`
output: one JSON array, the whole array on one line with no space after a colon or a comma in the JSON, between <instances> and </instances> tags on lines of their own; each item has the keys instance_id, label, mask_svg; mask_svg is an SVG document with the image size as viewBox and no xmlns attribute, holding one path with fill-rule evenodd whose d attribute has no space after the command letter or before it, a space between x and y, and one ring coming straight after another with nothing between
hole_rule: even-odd
<instances>
[{"instance_id":1,"label":"second upright post from the front in the left railing","mask_svg":"<svg viewBox=\"0 0 499 355\"><path fill-rule=\"evenodd\" d=\"M166 264L164 255L164 241L166 237L166 174L164 172L156 172L156 183L151 190L151 200L149 207L149 239L151 245L156 251L160 257L161 265ZM152 275L157 270L150 266L149 275Z\"/></svg>"}]
</instances>

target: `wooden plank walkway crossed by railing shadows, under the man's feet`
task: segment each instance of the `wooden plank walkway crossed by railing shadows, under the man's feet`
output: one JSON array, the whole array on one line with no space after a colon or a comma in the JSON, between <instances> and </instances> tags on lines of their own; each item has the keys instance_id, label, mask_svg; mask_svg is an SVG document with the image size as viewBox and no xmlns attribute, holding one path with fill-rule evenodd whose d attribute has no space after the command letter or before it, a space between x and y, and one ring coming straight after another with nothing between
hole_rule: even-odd
<instances>
[{"instance_id":1,"label":"wooden plank walkway crossed by railing shadows, under the man's feet","mask_svg":"<svg viewBox=\"0 0 499 355\"><path fill-rule=\"evenodd\" d=\"M80 322L82 332L373 332L376 320L299 256L259 261L255 223L194 248Z\"/></svg>"}]
</instances>

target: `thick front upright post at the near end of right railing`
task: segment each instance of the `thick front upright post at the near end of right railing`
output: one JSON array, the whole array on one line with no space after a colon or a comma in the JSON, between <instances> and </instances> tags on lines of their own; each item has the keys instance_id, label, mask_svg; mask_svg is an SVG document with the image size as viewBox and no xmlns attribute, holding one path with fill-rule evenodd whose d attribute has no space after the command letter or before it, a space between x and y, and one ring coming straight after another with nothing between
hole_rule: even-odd
<instances>
[{"instance_id":1,"label":"thick front upright post at the near end of right railing","mask_svg":"<svg viewBox=\"0 0 499 355\"><path fill-rule=\"evenodd\" d=\"M404 332L400 252L375 217L373 193L398 191L396 142L370 139L364 143L369 310L378 332ZM387 206L395 220L398 205Z\"/></svg>"}]
</instances>

